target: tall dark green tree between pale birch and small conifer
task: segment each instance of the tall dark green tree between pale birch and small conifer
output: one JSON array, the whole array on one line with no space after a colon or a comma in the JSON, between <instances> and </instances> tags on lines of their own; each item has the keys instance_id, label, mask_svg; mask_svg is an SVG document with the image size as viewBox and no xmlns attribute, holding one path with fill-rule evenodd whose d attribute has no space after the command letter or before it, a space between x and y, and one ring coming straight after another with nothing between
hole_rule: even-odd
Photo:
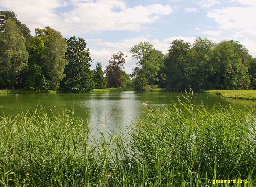
<instances>
[{"instance_id":1,"label":"tall dark green tree between pale birch and small conifer","mask_svg":"<svg viewBox=\"0 0 256 187\"><path fill-rule=\"evenodd\" d=\"M92 91L93 77L90 70L92 61L89 48L86 48L86 43L83 38L76 39L72 36L67 39L66 57L68 65L64 69L66 77L62 81L62 85L67 89L79 89L79 91Z\"/></svg>"}]
</instances>

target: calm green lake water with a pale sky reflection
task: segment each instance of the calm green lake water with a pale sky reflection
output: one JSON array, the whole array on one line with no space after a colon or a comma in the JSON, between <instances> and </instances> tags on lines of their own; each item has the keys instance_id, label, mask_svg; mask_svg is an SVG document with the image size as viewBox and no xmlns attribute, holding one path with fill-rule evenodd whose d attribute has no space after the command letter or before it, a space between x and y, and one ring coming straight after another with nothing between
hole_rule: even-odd
<instances>
[{"instance_id":1,"label":"calm green lake water with a pale sky reflection","mask_svg":"<svg viewBox=\"0 0 256 187\"><path fill-rule=\"evenodd\" d=\"M56 94L7 94L0 95L0 115L17 113L24 107L35 109L37 105L45 106L46 111L74 109L74 113L83 120L88 120L91 127L118 130L132 125L132 121L142 115L146 107L163 107L177 101L177 94L170 92L106 92L106 93L56 93ZM195 105L202 102L211 108L216 102L223 106L237 105L256 107L256 101L227 99L210 93L194 93ZM141 103L147 101L147 106Z\"/></svg>"}]
</instances>

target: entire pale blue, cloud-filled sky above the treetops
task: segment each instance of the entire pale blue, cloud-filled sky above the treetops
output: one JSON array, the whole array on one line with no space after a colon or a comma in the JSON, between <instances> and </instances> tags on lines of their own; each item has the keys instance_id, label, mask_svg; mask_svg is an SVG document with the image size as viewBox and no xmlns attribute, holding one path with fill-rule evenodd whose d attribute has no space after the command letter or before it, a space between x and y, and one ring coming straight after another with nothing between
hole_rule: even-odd
<instances>
[{"instance_id":1,"label":"entire pale blue, cloud-filled sky above the treetops","mask_svg":"<svg viewBox=\"0 0 256 187\"><path fill-rule=\"evenodd\" d=\"M256 57L256 0L1 0L0 9L13 11L33 36L50 26L82 37L92 69L121 51L130 74L137 63L132 46L148 41L166 54L173 40L193 44L197 37L239 41Z\"/></svg>"}]
</instances>

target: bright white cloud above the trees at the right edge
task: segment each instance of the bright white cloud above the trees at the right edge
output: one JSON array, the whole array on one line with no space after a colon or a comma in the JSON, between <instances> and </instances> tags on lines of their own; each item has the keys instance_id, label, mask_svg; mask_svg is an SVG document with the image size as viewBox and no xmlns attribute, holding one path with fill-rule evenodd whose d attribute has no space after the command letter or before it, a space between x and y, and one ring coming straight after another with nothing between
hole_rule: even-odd
<instances>
[{"instance_id":1,"label":"bright white cloud above the trees at the right edge","mask_svg":"<svg viewBox=\"0 0 256 187\"><path fill-rule=\"evenodd\" d=\"M221 40L237 40L244 45L253 57L256 57L256 1L231 0L245 7L227 7L213 9L207 16L213 18L219 27L217 31L204 31L208 38ZM247 7L246 7L247 6Z\"/></svg>"}]
</instances>

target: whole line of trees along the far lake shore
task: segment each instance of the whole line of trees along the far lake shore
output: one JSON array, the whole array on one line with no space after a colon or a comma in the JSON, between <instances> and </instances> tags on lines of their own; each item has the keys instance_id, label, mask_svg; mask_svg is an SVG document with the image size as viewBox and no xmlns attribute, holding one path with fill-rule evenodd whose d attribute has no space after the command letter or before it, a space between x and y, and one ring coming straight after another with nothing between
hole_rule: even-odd
<instances>
[{"instance_id":1,"label":"whole line of trees along the far lake shore","mask_svg":"<svg viewBox=\"0 0 256 187\"><path fill-rule=\"evenodd\" d=\"M135 87L150 91L255 89L256 59L237 41L214 43L197 38L189 44L174 40L167 54L149 42L130 50L137 66L124 72L122 52L114 52L105 71L101 62L90 70L93 58L83 38L63 38L50 27L35 29L22 24L14 12L0 11L0 87L90 92L94 88ZM104 76L105 75L105 76Z\"/></svg>"}]
</instances>

